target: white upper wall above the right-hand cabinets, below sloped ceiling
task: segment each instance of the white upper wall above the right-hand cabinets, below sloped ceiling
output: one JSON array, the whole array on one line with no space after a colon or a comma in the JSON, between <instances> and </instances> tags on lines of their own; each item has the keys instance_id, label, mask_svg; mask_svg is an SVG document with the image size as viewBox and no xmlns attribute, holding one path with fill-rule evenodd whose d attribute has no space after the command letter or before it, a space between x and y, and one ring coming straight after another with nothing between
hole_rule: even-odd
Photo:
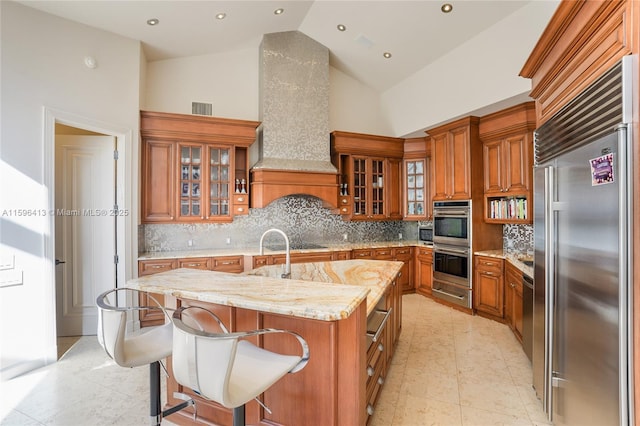
<instances>
[{"instance_id":1,"label":"white upper wall above the right-hand cabinets, below sloped ceiling","mask_svg":"<svg viewBox=\"0 0 640 426\"><path fill-rule=\"evenodd\" d=\"M397 136L428 128L520 94L518 76L558 1L532 1L382 94Z\"/></svg>"}]
</instances>

